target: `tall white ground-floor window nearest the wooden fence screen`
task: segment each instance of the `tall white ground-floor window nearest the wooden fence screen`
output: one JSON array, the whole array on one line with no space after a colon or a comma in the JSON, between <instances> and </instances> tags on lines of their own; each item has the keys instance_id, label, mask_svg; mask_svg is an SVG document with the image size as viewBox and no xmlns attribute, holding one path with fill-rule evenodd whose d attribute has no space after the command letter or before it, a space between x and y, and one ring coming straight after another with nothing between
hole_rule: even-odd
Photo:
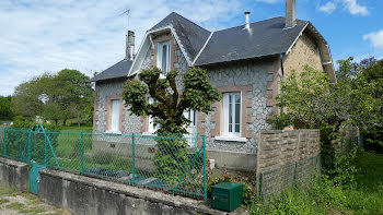
<instances>
[{"instance_id":1,"label":"tall white ground-floor window nearest the wooden fence screen","mask_svg":"<svg viewBox=\"0 0 383 215\"><path fill-rule=\"evenodd\" d=\"M224 135L241 136L241 93L223 94Z\"/></svg>"}]
</instances>

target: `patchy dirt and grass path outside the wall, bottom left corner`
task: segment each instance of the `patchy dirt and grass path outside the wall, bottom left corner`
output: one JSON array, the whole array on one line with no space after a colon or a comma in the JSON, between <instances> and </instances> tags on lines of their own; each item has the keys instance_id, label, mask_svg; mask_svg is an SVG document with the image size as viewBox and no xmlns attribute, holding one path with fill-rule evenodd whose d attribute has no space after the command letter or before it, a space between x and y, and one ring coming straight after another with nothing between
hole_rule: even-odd
<instances>
[{"instance_id":1,"label":"patchy dirt and grass path outside the wall, bottom left corner","mask_svg":"<svg viewBox=\"0 0 383 215\"><path fill-rule=\"evenodd\" d=\"M14 189L0 187L0 215L19 214L71 215L62 208L42 202L31 193L21 193Z\"/></svg>"}]
</instances>

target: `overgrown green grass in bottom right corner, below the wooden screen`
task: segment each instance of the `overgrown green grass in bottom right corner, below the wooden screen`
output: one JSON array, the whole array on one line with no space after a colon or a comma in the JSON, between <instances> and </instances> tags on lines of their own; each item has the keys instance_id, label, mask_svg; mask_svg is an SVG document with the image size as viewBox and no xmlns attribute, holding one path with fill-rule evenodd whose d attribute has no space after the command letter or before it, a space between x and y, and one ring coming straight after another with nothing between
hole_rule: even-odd
<instances>
[{"instance_id":1,"label":"overgrown green grass in bottom right corner, below the wooden screen","mask_svg":"<svg viewBox=\"0 0 383 215\"><path fill-rule=\"evenodd\" d=\"M291 189L268 206L253 205L251 214L382 214L383 155L361 152L357 187L341 189L327 179L305 189Z\"/></svg>"}]
</instances>

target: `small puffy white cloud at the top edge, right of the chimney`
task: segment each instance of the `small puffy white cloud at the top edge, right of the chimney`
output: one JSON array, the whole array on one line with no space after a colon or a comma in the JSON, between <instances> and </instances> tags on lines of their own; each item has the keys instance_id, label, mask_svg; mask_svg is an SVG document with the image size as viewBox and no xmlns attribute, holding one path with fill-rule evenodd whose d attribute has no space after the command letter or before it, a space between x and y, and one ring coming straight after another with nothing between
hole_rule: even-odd
<instances>
[{"instance_id":1,"label":"small puffy white cloud at the top edge, right of the chimney","mask_svg":"<svg viewBox=\"0 0 383 215\"><path fill-rule=\"evenodd\" d=\"M325 13L333 13L337 4L341 4L352 15L368 15L370 14L367 7L358 3L357 0L334 0L318 8L320 11Z\"/></svg>"}]
</instances>

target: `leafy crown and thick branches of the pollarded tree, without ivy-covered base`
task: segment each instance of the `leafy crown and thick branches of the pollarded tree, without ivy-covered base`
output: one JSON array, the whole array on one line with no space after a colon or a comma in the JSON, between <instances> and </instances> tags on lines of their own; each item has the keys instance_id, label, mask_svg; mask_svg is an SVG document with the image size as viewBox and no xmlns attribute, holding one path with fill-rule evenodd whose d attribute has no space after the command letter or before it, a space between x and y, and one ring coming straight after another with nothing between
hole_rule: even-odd
<instances>
[{"instance_id":1,"label":"leafy crown and thick branches of the pollarded tree, without ivy-covered base","mask_svg":"<svg viewBox=\"0 0 383 215\"><path fill-rule=\"evenodd\" d=\"M137 116L152 116L154 124L160 126L158 133L186 133L189 120L184 117L185 111L209 114L212 104L221 99L205 70L190 69L182 75L183 93L177 89L178 72L169 72L166 79L160 79L160 74L158 68L143 70L139 73L140 81L128 81L123 92L129 111ZM155 100L153 104L149 104L149 96Z\"/></svg>"}]
</instances>

